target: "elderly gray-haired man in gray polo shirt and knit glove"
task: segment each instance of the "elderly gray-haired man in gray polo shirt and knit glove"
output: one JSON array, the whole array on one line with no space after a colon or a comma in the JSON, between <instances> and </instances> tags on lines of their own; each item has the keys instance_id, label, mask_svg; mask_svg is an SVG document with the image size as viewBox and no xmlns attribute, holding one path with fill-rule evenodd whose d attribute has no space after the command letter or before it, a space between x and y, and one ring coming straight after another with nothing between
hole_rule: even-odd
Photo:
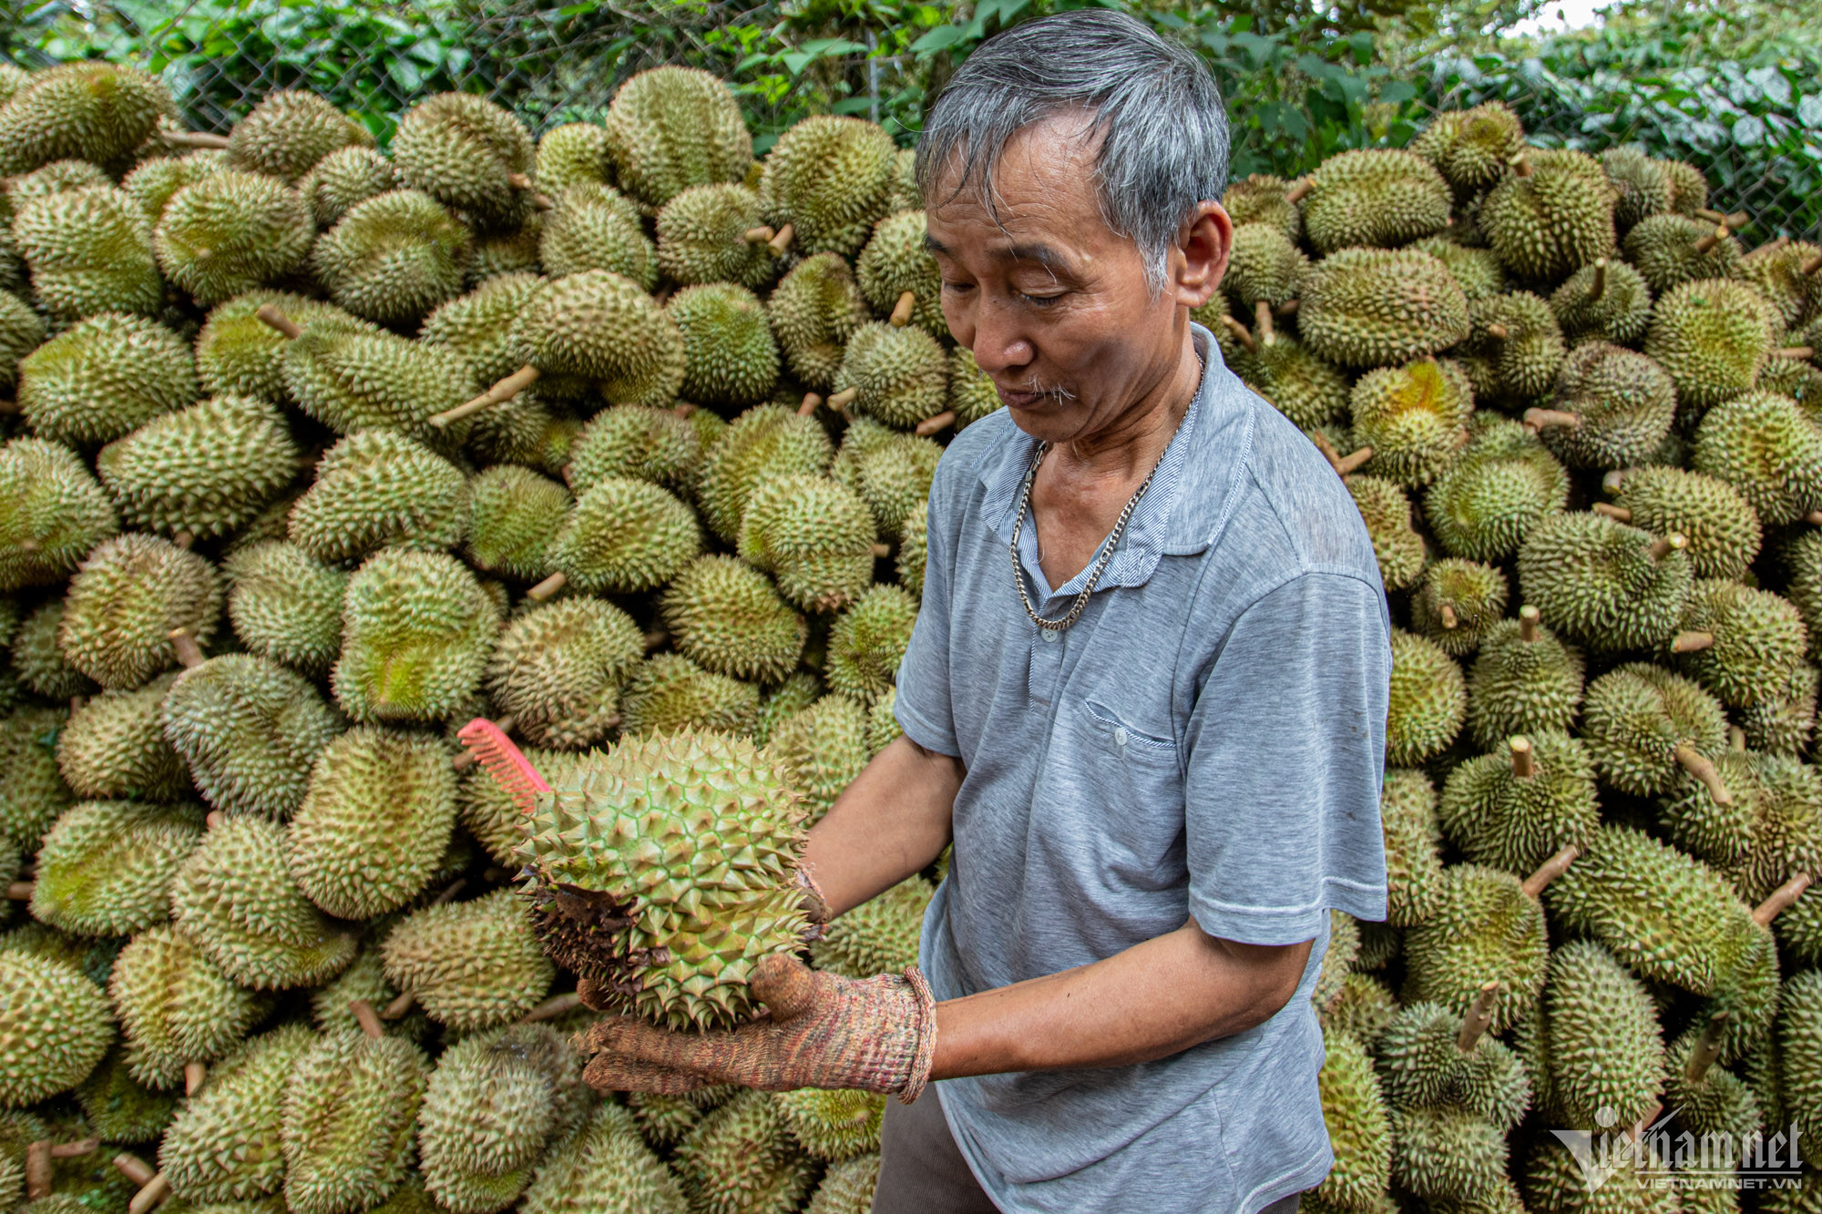
<instances>
[{"instance_id":1,"label":"elderly gray-haired man in gray polo shirt and knit glove","mask_svg":"<svg viewBox=\"0 0 1822 1214\"><path fill-rule=\"evenodd\" d=\"M904 736L805 857L842 913L953 840L927 983L763 966L767 1021L609 1024L592 1081L895 1092L876 1214L1277 1214L1323 1179L1310 986L1330 910L1385 915L1388 622L1346 489L1190 321L1226 160L1204 67L1126 16L957 71L918 184L1006 408L937 468Z\"/></svg>"}]
</instances>

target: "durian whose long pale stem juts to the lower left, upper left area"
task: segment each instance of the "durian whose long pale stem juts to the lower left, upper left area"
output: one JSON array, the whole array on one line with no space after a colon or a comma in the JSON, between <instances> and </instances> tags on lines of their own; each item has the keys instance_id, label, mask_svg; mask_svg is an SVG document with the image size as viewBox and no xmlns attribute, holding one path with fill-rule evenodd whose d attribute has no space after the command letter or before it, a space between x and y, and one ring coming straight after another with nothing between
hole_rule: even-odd
<instances>
[{"instance_id":1,"label":"durian whose long pale stem juts to the lower left, upper left area","mask_svg":"<svg viewBox=\"0 0 1822 1214\"><path fill-rule=\"evenodd\" d=\"M523 366L592 381L616 405L670 405L683 386L681 330L645 288L609 270L545 281L512 323L512 348Z\"/></svg>"}]
</instances>

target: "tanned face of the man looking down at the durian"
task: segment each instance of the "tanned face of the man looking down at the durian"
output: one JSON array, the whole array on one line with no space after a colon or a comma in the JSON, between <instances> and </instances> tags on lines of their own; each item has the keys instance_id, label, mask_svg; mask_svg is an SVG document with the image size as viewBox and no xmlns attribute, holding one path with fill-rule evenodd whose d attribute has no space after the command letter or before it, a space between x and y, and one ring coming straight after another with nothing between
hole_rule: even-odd
<instances>
[{"instance_id":1,"label":"tanned face of the man looking down at the durian","mask_svg":"<svg viewBox=\"0 0 1822 1214\"><path fill-rule=\"evenodd\" d=\"M1071 115L1018 131L993 171L993 211L978 190L957 191L958 162L927 210L949 332L1018 428L1053 445L1110 430L1155 392L1179 366L1188 323L1173 281L1181 250L1153 299L1139 246L1100 215L1084 131ZM1192 288L1192 306L1212 288Z\"/></svg>"}]
</instances>

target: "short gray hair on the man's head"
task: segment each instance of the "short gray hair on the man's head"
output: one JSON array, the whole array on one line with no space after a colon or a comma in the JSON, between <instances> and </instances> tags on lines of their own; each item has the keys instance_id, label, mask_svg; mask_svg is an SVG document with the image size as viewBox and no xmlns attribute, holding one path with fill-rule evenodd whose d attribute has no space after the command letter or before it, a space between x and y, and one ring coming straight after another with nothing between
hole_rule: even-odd
<instances>
[{"instance_id":1,"label":"short gray hair on the man's head","mask_svg":"<svg viewBox=\"0 0 1822 1214\"><path fill-rule=\"evenodd\" d=\"M1197 202L1226 190L1228 113L1193 51L1124 13L1057 13L982 42L924 122L918 190L927 202L960 155L957 193L973 188L993 211L993 166L1006 144L1068 111L1091 117L1100 217L1139 246L1157 297L1177 231Z\"/></svg>"}]
</instances>

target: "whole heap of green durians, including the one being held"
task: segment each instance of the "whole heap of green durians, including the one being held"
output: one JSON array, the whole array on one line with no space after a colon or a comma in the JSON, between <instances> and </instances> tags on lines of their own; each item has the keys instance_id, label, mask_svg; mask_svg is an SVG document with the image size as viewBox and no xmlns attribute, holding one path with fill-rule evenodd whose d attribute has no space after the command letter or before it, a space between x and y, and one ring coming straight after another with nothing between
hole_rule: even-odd
<instances>
[{"instance_id":1,"label":"whole heap of green durians, including the one being held","mask_svg":"<svg viewBox=\"0 0 1822 1214\"><path fill-rule=\"evenodd\" d=\"M0 1201L865 1210L882 1097L603 1099L568 1037L578 977L691 1030L765 955L915 961L942 866L827 930L793 884L998 406L911 153L756 160L680 67L537 140L434 97L390 155L308 93L175 115L0 67ZM1199 319L1401 625L1317 1214L1722 1210L1547 1130L1822 1136L1822 248L1705 195L1498 106L1228 191Z\"/></svg>"}]
</instances>

